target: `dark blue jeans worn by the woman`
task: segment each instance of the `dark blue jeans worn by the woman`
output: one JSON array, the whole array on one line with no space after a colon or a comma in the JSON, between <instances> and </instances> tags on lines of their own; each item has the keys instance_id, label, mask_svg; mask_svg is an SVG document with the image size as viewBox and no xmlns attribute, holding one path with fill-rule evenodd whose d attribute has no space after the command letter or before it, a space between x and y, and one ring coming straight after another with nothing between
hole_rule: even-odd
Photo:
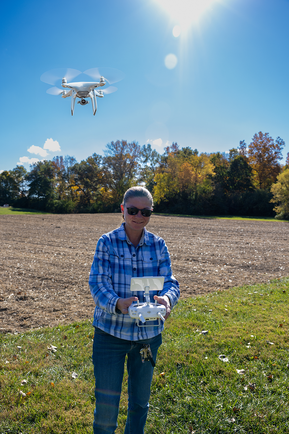
<instances>
[{"instance_id":1,"label":"dark blue jeans worn by the woman","mask_svg":"<svg viewBox=\"0 0 289 434\"><path fill-rule=\"evenodd\" d=\"M162 343L159 334L150 339L127 341L95 327L92 362L95 377L94 434L114 434L120 405L124 362L127 355L128 409L124 434L143 434L149 411L153 366L142 363L140 349L148 343L156 362Z\"/></svg>"}]
</instances>

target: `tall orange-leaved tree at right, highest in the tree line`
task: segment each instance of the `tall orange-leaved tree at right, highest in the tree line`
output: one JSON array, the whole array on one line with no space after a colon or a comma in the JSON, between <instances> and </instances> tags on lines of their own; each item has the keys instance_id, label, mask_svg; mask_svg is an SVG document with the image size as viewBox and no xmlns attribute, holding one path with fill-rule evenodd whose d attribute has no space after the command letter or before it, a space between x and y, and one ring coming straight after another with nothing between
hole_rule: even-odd
<instances>
[{"instance_id":1,"label":"tall orange-leaved tree at right, highest in the tree line","mask_svg":"<svg viewBox=\"0 0 289 434\"><path fill-rule=\"evenodd\" d=\"M258 188L269 188L276 181L281 171L279 160L283 158L282 149L285 142L277 137L274 141L269 133L261 131L254 134L252 142L248 146L240 141L240 154L247 159L253 169L253 182Z\"/></svg>"}]
</instances>

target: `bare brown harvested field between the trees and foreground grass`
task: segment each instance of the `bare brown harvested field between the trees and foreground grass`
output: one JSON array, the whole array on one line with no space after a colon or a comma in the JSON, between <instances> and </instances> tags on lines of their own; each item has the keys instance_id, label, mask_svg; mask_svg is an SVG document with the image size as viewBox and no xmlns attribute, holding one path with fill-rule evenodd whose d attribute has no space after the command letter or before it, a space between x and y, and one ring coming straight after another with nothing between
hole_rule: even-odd
<instances>
[{"instance_id":1,"label":"bare brown harvested field between the trees and foreground grass","mask_svg":"<svg viewBox=\"0 0 289 434\"><path fill-rule=\"evenodd\" d=\"M92 319L88 276L98 238L121 214L1 215L0 332ZM181 297L289 275L289 224L153 215Z\"/></svg>"}]
</instances>

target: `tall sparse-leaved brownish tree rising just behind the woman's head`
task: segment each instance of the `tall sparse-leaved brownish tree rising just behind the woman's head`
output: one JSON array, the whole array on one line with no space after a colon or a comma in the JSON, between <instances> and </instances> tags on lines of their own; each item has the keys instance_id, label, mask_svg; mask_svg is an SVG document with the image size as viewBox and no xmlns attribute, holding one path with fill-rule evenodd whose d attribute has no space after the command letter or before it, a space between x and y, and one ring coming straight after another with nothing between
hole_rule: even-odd
<instances>
[{"instance_id":1,"label":"tall sparse-leaved brownish tree rising just behind the woman's head","mask_svg":"<svg viewBox=\"0 0 289 434\"><path fill-rule=\"evenodd\" d=\"M104 189L114 203L120 203L124 192L137 183L140 145L136 141L112 141L106 145L103 158Z\"/></svg>"}]
</instances>

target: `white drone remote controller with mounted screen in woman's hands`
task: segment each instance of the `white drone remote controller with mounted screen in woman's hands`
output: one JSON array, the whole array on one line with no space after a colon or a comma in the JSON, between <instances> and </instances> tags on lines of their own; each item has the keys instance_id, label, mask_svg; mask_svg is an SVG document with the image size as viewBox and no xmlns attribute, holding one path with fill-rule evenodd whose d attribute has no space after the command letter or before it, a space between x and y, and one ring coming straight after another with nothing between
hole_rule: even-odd
<instances>
[{"instance_id":1,"label":"white drone remote controller with mounted screen in woman's hands","mask_svg":"<svg viewBox=\"0 0 289 434\"><path fill-rule=\"evenodd\" d=\"M131 291L144 291L146 302L133 302L129 308L128 313L130 318L136 319L139 327L155 327L160 325L160 320L165 321L166 306L159 304L157 301L150 302L149 289L154 291L161 291L164 283L164 277L132 277L130 282ZM157 321L156 325L140 325L140 321L145 323L147 321Z\"/></svg>"}]
</instances>

